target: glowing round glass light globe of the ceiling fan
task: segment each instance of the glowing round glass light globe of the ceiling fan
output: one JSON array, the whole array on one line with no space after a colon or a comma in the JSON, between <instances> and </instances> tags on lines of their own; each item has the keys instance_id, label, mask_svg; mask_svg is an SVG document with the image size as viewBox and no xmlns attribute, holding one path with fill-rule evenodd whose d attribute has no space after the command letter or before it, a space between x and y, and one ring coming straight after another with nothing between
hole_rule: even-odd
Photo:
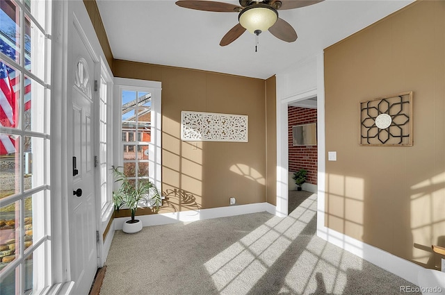
<instances>
[{"instance_id":1,"label":"glowing round glass light globe of the ceiling fan","mask_svg":"<svg viewBox=\"0 0 445 295\"><path fill-rule=\"evenodd\" d=\"M267 31L278 19L277 10L271 7L248 7L241 11L239 23L243 28L254 34L254 31Z\"/></svg>"}]
</instances>

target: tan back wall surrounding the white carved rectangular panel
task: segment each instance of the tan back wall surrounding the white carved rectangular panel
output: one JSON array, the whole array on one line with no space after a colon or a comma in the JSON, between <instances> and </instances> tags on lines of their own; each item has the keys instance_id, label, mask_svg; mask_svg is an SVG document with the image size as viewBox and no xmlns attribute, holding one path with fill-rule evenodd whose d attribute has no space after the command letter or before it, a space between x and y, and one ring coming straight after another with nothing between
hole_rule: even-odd
<instances>
[{"instance_id":1,"label":"tan back wall surrounding the white carved rectangular panel","mask_svg":"<svg viewBox=\"0 0 445 295\"><path fill-rule=\"evenodd\" d=\"M162 83L159 212L266 201L265 81L209 71L114 60L115 76ZM181 111L249 116L249 142L182 142Z\"/></svg>"}]
</instances>

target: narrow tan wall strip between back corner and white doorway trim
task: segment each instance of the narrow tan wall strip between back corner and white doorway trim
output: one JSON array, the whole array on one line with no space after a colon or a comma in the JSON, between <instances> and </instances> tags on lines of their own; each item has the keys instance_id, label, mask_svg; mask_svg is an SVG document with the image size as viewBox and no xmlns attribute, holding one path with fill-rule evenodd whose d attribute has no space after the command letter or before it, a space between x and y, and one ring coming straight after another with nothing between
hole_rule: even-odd
<instances>
[{"instance_id":1,"label":"narrow tan wall strip between back corner and white doorway trim","mask_svg":"<svg viewBox=\"0 0 445 295\"><path fill-rule=\"evenodd\" d=\"M277 77L266 80L266 201L277 205Z\"/></svg>"}]
</instances>

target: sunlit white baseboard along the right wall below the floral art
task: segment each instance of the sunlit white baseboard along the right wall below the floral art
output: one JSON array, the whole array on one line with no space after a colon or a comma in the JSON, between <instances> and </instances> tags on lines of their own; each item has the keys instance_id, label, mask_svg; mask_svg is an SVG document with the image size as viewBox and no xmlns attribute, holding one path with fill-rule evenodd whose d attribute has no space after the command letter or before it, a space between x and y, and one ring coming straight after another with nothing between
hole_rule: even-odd
<instances>
[{"instance_id":1,"label":"sunlit white baseboard along the right wall below the floral art","mask_svg":"<svg viewBox=\"0 0 445 295\"><path fill-rule=\"evenodd\" d=\"M343 250L353 253L359 258L363 258L382 269L394 273L396 276L399 276L414 285L419 284L417 282L417 276L419 271L423 270L423 267L418 264L361 242L353 237L343 235L342 233L325 226L317 228L317 235L318 237L325 239L327 242L339 246Z\"/></svg>"}]
</instances>

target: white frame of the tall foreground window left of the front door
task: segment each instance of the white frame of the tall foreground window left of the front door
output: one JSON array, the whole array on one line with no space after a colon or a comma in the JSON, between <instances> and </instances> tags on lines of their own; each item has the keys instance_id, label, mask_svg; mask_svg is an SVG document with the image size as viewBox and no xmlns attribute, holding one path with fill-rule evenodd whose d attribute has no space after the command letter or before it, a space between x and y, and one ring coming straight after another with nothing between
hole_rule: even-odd
<instances>
[{"instance_id":1,"label":"white frame of the tall foreground window left of the front door","mask_svg":"<svg viewBox=\"0 0 445 295\"><path fill-rule=\"evenodd\" d=\"M19 208L16 210L19 211L19 225L16 230L19 230L19 236L24 237L24 200L26 198L33 198L33 237L39 237L38 240L33 239L33 244L29 246L29 248L24 249L24 239L21 238L19 242L19 255L10 262L8 267L2 270L1 276L6 277L10 273L15 272L16 280L15 280L15 292L16 294L24 294L25 281L24 276L26 273L24 271L25 258L33 255L33 289L32 293L36 292L44 292L52 283L52 273L51 273L51 187L50 187L50 160L49 160L49 146L50 142L50 103L47 102L51 97L51 11L52 11L52 1L44 1L44 8L42 6L38 6L37 2L32 2L35 5L31 5L31 12L26 8L23 1L15 1L17 9L19 9L19 26L17 26L19 30L19 35L21 36L20 47L19 47L19 55L20 60L17 63L15 60L10 59L8 56L0 53L0 58L4 62L6 62L11 67L15 68L16 71L20 72L19 81L20 81L20 90L19 90L19 101L24 102L24 78L25 76L32 79L31 87L37 87L37 85L41 85L44 88L44 97L43 106L41 107L44 112L44 116L46 119L42 121L33 121L33 124L38 124L42 128L42 131L34 131L34 130L25 130L24 128L24 111L22 108L19 108L19 111L22 112L22 121L19 122L21 124L21 128L3 128L0 127L1 133L19 135L20 147L19 147L19 177L24 175L23 171L23 155L24 155L24 138L31 137L32 142L33 139L42 139L42 144L31 144L33 146L33 150L37 149L42 151L43 157L34 157L33 166L35 167L43 167L43 174L32 174L33 180L36 180L37 183L42 182L42 185L38 185L28 190L24 190L24 178L22 177L19 181L21 189L19 193L8 196L4 199L0 200L0 207L13 204L17 205L17 201L19 201ZM44 14L45 24L42 26L38 23L38 19L33 15L36 14ZM31 26L35 25L35 30L41 31L44 34L44 52L40 52L38 48L31 47L31 56L33 56L33 60L31 61L31 70L26 69L24 66L24 36L25 36L25 18L31 20ZM42 19L42 18L40 18ZM31 40L35 39L38 42L38 37L33 37L33 30L31 30ZM43 56L43 58L39 58L39 56ZM32 90L31 90L32 91ZM32 92L31 92L32 93ZM32 94L31 94L32 95ZM36 103L38 101L35 99L31 99L31 103ZM31 112L35 112L35 108L31 108ZM33 116L34 117L34 116ZM40 195L40 196L39 196ZM34 199L34 196L40 198ZM42 210L42 211L40 211ZM41 214L42 213L42 214ZM37 221L37 222L34 222ZM41 224L40 227L34 228L35 225ZM38 235L36 235L38 233ZM16 248L17 249L17 248ZM17 250L16 250L17 251ZM18 270L18 272L17 272ZM17 277L19 281L17 282ZM1 291L0 291L1 292ZM29 294L29 292L26 292Z\"/></svg>"}]
</instances>

